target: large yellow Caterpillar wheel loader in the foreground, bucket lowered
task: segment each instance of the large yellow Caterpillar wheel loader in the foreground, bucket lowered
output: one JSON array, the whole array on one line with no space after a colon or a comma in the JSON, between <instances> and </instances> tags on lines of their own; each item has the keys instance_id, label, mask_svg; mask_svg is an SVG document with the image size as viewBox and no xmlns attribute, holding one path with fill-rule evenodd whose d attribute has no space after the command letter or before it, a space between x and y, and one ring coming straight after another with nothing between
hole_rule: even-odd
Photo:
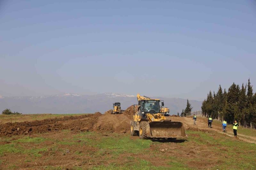
<instances>
[{"instance_id":1,"label":"large yellow Caterpillar wheel loader in the foreground, bucket lowered","mask_svg":"<svg viewBox=\"0 0 256 170\"><path fill-rule=\"evenodd\" d=\"M140 94L137 94L137 99L138 107L134 105L131 121L132 136L139 135L141 139L187 138L183 123L166 120L164 113L160 112L160 103L164 106L164 101Z\"/></svg>"}]
</instances>

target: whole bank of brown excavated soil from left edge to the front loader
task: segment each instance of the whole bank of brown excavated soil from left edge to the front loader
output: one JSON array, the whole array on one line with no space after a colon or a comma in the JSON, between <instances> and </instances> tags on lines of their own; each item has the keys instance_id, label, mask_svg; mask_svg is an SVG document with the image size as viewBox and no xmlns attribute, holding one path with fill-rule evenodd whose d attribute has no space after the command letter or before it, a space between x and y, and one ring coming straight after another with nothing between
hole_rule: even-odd
<instances>
[{"instance_id":1,"label":"whole bank of brown excavated soil from left edge to the front loader","mask_svg":"<svg viewBox=\"0 0 256 170\"><path fill-rule=\"evenodd\" d=\"M0 124L0 137L45 133L62 129L126 133L130 129L132 115L133 106L128 107L123 114L112 115L110 111L107 111L104 115L96 112L88 115L64 116L40 121L8 122Z\"/></svg>"}]
</instances>

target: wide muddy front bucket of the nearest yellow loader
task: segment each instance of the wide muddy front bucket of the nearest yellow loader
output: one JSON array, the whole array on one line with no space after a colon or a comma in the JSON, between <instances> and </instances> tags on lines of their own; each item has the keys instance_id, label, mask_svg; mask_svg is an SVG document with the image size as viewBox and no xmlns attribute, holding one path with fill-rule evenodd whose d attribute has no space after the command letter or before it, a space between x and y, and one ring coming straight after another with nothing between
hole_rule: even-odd
<instances>
[{"instance_id":1,"label":"wide muddy front bucket of the nearest yellow loader","mask_svg":"<svg viewBox=\"0 0 256 170\"><path fill-rule=\"evenodd\" d=\"M187 138L185 127L181 122L150 122L152 138Z\"/></svg>"}]
</instances>

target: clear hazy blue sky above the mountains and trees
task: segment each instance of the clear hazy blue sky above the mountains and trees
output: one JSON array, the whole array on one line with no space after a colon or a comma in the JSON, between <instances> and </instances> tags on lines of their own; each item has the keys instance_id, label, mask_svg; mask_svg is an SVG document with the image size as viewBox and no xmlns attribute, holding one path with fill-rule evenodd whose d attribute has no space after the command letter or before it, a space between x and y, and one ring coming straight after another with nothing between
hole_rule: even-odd
<instances>
[{"instance_id":1,"label":"clear hazy blue sky above the mountains and trees","mask_svg":"<svg viewBox=\"0 0 256 170\"><path fill-rule=\"evenodd\" d=\"M0 95L203 100L256 88L256 3L0 0ZM255 90L254 90L255 92Z\"/></svg>"}]
</instances>

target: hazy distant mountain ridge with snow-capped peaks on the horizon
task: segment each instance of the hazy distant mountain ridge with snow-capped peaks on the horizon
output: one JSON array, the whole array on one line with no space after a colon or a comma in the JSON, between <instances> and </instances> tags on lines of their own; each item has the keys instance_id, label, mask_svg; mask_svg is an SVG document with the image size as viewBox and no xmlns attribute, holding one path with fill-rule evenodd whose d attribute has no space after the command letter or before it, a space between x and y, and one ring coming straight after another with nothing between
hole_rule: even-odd
<instances>
[{"instance_id":1,"label":"hazy distant mountain ridge with snow-capped peaks on the horizon","mask_svg":"<svg viewBox=\"0 0 256 170\"><path fill-rule=\"evenodd\" d=\"M187 99L152 97L164 100L164 106L170 108L172 114L177 114L185 109ZM138 104L134 95L118 93L102 93L95 95L80 95L72 93L55 94L48 96L16 96L6 97L0 95L0 112L5 108L18 111L23 114L36 113L94 113L112 108L114 102L120 102L122 109ZM189 100L193 109L201 109L202 101Z\"/></svg>"}]
</instances>

